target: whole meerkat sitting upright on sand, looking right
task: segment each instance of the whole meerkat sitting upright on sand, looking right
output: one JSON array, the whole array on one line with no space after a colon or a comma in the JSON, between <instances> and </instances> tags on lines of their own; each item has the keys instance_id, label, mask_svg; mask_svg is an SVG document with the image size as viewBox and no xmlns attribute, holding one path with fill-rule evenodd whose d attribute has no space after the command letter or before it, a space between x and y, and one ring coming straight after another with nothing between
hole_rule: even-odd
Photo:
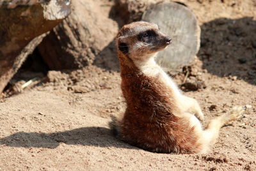
<instances>
[{"instance_id":1,"label":"whole meerkat sitting upright on sand, looking right","mask_svg":"<svg viewBox=\"0 0 256 171\"><path fill-rule=\"evenodd\" d=\"M216 142L220 128L244 108L233 107L204 130L198 102L184 96L154 60L171 43L156 24L132 22L120 29L116 47L127 107L116 121L116 131L125 142L147 151L204 153Z\"/></svg>"}]
</instances>

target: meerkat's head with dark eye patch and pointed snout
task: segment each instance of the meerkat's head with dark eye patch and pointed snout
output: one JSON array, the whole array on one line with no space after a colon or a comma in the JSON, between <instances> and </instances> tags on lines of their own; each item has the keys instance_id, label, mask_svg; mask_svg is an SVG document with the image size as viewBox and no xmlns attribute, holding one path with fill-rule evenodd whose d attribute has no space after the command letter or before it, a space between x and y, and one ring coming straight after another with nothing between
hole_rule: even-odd
<instances>
[{"instance_id":1,"label":"meerkat's head with dark eye patch and pointed snout","mask_svg":"<svg viewBox=\"0 0 256 171\"><path fill-rule=\"evenodd\" d=\"M159 31L156 24L132 22L117 35L118 50L133 61L145 61L172 43L170 37Z\"/></svg>"}]
</instances>

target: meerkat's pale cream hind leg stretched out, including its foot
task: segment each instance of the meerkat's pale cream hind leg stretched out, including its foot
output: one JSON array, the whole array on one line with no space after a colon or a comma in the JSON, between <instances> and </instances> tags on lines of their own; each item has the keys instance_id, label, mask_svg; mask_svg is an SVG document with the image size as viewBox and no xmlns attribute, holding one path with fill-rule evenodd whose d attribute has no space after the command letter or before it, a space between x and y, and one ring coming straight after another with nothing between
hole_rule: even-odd
<instances>
[{"instance_id":1,"label":"meerkat's pale cream hind leg stretched out, including its foot","mask_svg":"<svg viewBox=\"0 0 256 171\"><path fill-rule=\"evenodd\" d=\"M216 142L219 136L220 128L225 126L225 124L230 123L231 121L239 119L241 114L243 114L244 109L245 108L241 106L233 107L230 112L227 112L211 120L207 126L207 129L204 130L202 134L202 144L205 145L202 152L207 152L209 147Z\"/></svg>"}]
</instances>

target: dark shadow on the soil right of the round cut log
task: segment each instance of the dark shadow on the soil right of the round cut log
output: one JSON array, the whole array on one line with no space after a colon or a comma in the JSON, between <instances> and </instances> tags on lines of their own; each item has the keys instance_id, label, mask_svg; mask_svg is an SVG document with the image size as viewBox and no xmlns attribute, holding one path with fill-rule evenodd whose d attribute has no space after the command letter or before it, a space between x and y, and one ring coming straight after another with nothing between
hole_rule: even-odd
<instances>
[{"instance_id":1,"label":"dark shadow on the soil right of the round cut log","mask_svg":"<svg viewBox=\"0 0 256 171\"><path fill-rule=\"evenodd\" d=\"M201 26L198 57L218 77L236 76L256 84L256 21L216 19Z\"/></svg>"}]
</instances>

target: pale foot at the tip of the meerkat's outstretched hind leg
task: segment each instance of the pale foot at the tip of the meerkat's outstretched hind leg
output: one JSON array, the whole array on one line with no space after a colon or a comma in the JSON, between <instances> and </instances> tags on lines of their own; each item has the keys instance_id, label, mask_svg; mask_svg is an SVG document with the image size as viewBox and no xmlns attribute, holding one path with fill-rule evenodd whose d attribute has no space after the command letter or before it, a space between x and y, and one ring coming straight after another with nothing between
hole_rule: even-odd
<instances>
[{"instance_id":1,"label":"pale foot at the tip of the meerkat's outstretched hind leg","mask_svg":"<svg viewBox=\"0 0 256 171\"><path fill-rule=\"evenodd\" d=\"M225 124L228 124L231 121L235 121L235 120L239 119L242 116L244 110L245 110L245 107L242 107L242 106L233 107L230 110L230 112L223 115L223 120L224 120Z\"/></svg>"}]
</instances>

